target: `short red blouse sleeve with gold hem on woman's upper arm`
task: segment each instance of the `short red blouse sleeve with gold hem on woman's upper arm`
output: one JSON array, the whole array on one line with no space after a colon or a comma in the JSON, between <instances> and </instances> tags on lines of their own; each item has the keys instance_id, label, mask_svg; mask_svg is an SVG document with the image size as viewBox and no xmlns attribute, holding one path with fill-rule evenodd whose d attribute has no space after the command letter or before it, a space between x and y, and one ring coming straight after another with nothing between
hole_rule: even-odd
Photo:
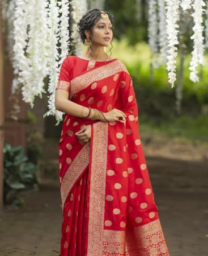
<instances>
[{"instance_id":1,"label":"short red blouse sleeve with gold hem on woman's upper arm","mask_svg":"<svg viewBox=\"0 0 208 256\"><path fill-rule=\"evenodd\" d=\"M67 92L70 91L71 71L72 68L70 65L69 57L66 57L61 64L60 75L58 77L56 89L66 90Z\"/></svg>"}]
</instances>

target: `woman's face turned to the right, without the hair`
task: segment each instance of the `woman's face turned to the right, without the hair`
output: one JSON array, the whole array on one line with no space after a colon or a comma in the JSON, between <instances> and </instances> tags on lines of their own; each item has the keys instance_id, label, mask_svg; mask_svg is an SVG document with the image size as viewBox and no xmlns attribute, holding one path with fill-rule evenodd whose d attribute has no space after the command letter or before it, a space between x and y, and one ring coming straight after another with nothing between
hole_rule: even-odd
<instances>
[{"instance_id":1,"label":"woman's face turned to the right, without the hair","mask_svg":"<svg viewBox=\"0 0 208 256\"><path fill-rule=\"evenodd\" d=\"M113 26L110 19L100 18L95 23L92 31L93 44L101 46L109 46L113 38Z\"/></svg>"}]
</instances>

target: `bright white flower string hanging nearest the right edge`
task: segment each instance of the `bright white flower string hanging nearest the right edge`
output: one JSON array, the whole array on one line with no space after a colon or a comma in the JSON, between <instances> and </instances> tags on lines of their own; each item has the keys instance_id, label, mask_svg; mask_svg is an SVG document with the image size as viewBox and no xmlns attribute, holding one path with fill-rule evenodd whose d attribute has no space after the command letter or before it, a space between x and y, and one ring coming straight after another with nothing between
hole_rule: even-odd
<instances>
[{"instance_id":1,"label":"bright white flower string hanging nearest the right edge","mask_svg":"<svg viewBox=\"0 0 208 256\"><path fill-rule=\"evenodd\" d=\"M194 27L193 32L194 34L191 36L190 39L193 39L194 42L194 49L192 51L192 60L190 61L190 80L193 82L198 82L199 77L197 76L197 67L198 64L205 65L205 59L203 53L205 51L205 45L203 43L203 9L206 6L203 0L195 0L192 4L194 13L192 13L193 20L194 20Z\"/></svg>"}]
</instances>

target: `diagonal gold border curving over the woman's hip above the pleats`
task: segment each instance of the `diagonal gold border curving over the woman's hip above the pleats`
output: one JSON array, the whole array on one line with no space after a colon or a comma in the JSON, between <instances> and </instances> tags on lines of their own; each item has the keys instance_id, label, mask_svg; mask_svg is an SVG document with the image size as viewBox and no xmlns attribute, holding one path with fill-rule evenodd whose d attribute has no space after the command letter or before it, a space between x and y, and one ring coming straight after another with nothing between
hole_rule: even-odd
<instances>
[{"instance_id":1,"label":"diagonal gold border curving over the woman's hip above the pleats","mask_svg":"<svg viewBox=\"0 0 208 256\"><path fill-rule=\"evenodd\" d=\"M66 197L69 195L71 188L73 187L75 181L82 174L84 169L90 162L90 142L84 144L82 149L79 151L77 156L74 158L70 167L63 176L61 183L61 200L62 209L64 207Z\"/></svg>"}]
</instances>

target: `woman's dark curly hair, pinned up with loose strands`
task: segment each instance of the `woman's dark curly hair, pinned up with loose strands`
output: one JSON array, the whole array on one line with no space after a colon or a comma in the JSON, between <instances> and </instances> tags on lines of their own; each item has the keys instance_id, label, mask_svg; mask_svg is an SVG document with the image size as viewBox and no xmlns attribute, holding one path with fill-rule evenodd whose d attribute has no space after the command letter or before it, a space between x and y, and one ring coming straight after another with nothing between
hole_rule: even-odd
<instances>
[{"instance_id":1,"label":"woman's dark curly hair, pinned up with loose strands","mask_svg":"<svg viewBox=\"0 0 208 256\"><path fill-rule=\"evenodd\" d=\"M113 22L114 22L113 15L110 14L108 11L104 11L104 12L108 14L108 17L111 20L111 23L112 23L112 26L113 26ZM95 23L100 18L101 18L100 10L99 9L91 9L91 10L88 10L82 16L82 18L79 20L79 22L78 22L78 32L80 34L80 38L81 38L83 44L84 44L84 40L86 39L86 35L84 34L84 31L86 31L86 30L90 31L90 38L92 40L92 38L93 38L92 30L95 26ZM111 44L111 46L112 46L112 44ZM111 51L111 49L109 49L109 50ZM92 48L91 48L91 50L92 50Z\"/></svg>"}]
</instances>

